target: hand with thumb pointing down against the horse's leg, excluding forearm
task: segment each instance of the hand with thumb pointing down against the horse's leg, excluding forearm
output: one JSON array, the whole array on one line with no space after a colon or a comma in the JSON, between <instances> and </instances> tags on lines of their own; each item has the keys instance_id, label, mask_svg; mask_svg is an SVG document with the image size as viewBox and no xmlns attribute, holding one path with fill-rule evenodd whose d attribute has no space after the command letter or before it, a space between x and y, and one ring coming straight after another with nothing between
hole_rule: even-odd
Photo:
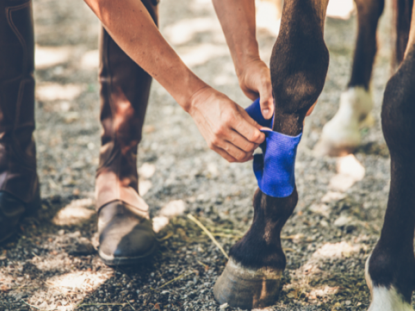
<instances>
[{"instance_id":1,"label":"hand with thumb pointing down against the horse's leg, excluding forearm","mask_svg":"<svg viewBox=\"0 0 415 311\"><path fill-rule=\"evenodd\" d=\"M237 70L239 86L250 100L261 98L261 112L266 120L274 115L273 86L270 69L261 59L255 59Z\"/></svg>"}]
</instances>

